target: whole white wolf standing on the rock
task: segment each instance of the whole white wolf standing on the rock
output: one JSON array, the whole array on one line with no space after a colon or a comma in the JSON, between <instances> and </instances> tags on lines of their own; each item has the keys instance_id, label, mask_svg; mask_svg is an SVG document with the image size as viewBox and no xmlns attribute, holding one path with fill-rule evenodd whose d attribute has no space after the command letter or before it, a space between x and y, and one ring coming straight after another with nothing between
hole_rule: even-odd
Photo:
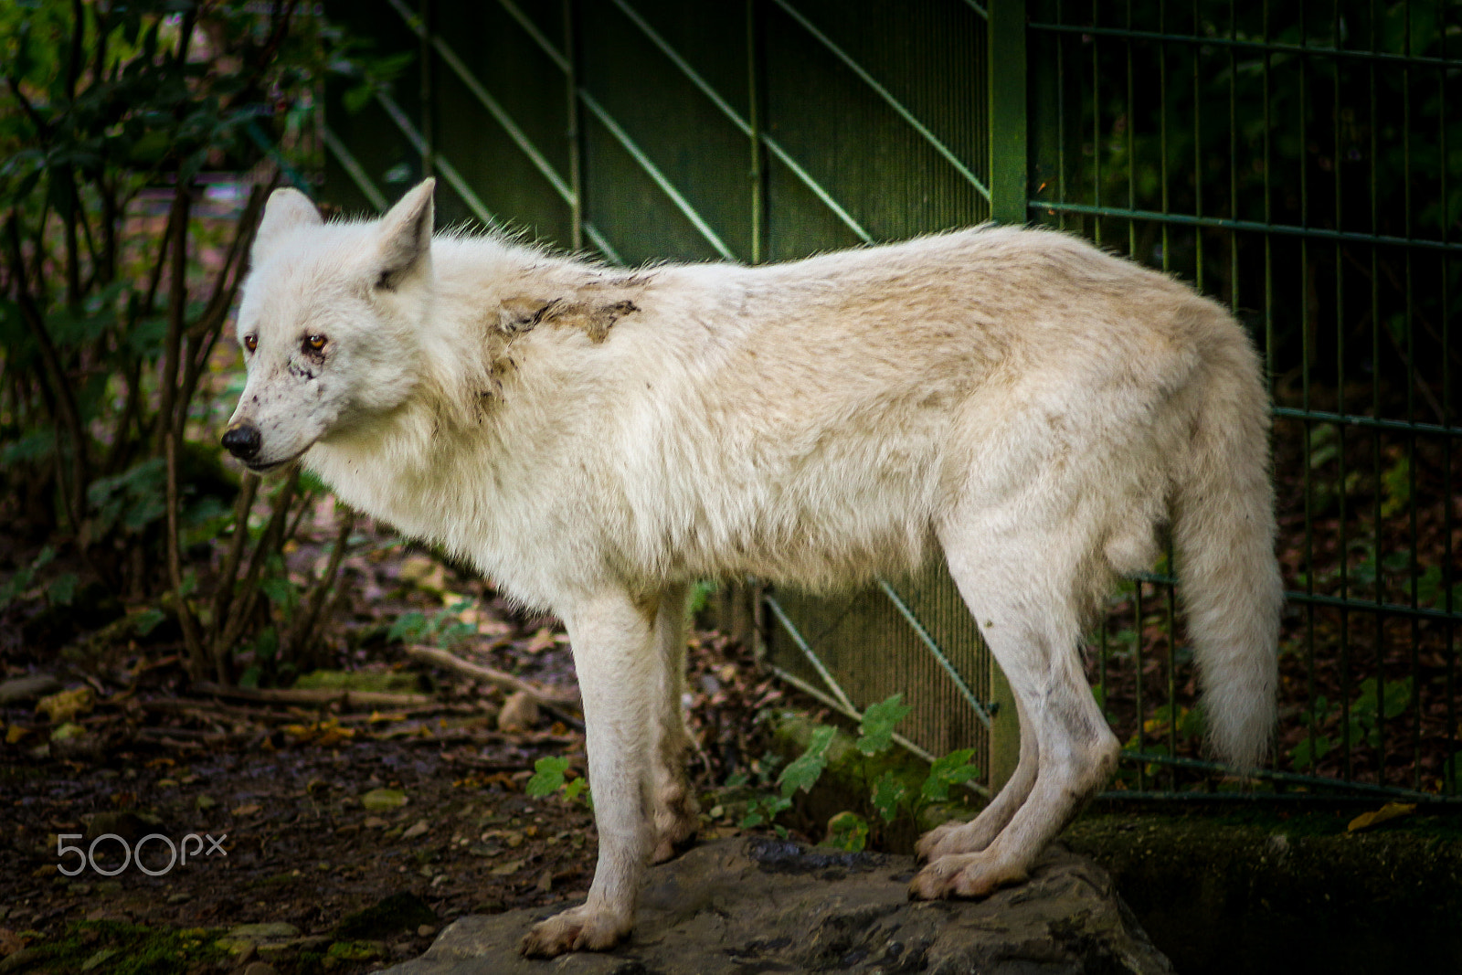
<instances>
[{"instance_id":1,"label":"whole white wolf standing on the rock","mask_svg":"<svg viewBox=\"0 0 1462 975\"><path fill-rule=\"evenodd\" d=\"M1025 877L1118 744L1080 627L1171 526L1209 735L1275 716L1281 604L1268 403L1235 322L1057 232L985 227L808 260L635 272L433 237L433 183L376 221L269 199L224 444L567 626L599 860L528 955L607 949L696 830L683 769L687 583L814 589L940 551L1020 719L1009 785L924 836L920 898Z\"/></svg>"}]
</instances>

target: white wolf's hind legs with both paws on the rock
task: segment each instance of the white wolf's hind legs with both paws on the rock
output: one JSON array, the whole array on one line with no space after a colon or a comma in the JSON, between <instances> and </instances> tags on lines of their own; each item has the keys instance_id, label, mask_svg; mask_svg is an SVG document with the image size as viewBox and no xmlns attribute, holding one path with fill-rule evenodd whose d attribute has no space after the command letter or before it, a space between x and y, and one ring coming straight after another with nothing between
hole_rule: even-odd
<instances>
[{"instance_id":1,"label":"white wolf's hind legs with both paws on the rock","mask_svg":"<svg viewBox=\"0 0 1462 975\"><path fill-rule=\"evenodd\" d=\"M1086 686L1077 652L1079 526L1042 532L987 523L940 541L950 574L1020 702L1020 738L1034 738L1037 762L1028 763L1022 747L1020 766L1034 765L1023 803L1001 804L1001 795L985 810L988 820L977 819L968 832L950 830L925 846L931 862L914 877L909 893L982 898L1025 880L1045 845L1111 775L1120 746ZM1023 772L1031 775L1029 767ZM996 829L1007 811L1009 822ZM962 851L961 843L984 846Z\"/></svg>"}]
</instances>

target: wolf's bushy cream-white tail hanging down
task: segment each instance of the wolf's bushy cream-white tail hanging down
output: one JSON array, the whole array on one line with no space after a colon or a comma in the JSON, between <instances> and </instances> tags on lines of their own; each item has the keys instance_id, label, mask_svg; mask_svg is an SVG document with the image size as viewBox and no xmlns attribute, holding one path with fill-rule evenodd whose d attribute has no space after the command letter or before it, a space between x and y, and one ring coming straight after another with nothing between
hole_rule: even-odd
<instances>
[{"instance_id":1,"label":"wolf's bushy cream-white tail hanging down","mask_svg":"<svg viewBox=\"0 0 1462 975\"><path fill-rule=\"evenodd\" d=\"M1275 728L1279 608L1269 405L1243 336L1209 358L1173 510L1178 591L1197 656L1209 743L1253 769Z\"/></svg>"}]
</instances>

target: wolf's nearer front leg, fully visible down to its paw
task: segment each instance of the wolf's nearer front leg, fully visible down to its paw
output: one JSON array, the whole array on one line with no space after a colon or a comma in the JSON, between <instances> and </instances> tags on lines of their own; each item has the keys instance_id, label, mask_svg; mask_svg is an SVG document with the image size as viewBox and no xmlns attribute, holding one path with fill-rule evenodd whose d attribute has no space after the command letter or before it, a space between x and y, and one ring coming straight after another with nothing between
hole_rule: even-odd
<instances>
[{"instance_id":1,"label":"wolf's nearer front leg, fully visible down to its paw","mask_svg":"<svg viewBox=\"0 0 1462 975\"><path fill-rule=\"evenodd\" d=\"M531 957L605 950L635 925L635 895L654 845L655 610L610 593L564 612L583 693L599 862L583 905L523 937L519 949Z\"/></svg>"}]
</instances>

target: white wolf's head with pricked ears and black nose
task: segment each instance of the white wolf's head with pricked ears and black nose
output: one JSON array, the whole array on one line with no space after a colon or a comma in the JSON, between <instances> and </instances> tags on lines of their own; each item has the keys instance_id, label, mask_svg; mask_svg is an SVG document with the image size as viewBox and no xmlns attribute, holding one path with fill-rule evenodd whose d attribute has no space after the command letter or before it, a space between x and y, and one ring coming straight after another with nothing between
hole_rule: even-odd
<instances>
[{"instance_id":1,"label":"white wolf's head with pricked ears and black nose","mask_svg":"<svg viewBox=\"0 0 1462 975\"><path fill-rule=\"evenodd\" d=\"M411 395L431 310L433 186L368 222L326 224L298 190L269 197L238 308L249 382L224 433L249 468L278 468Z\"/></svg>"}]
</instances>

